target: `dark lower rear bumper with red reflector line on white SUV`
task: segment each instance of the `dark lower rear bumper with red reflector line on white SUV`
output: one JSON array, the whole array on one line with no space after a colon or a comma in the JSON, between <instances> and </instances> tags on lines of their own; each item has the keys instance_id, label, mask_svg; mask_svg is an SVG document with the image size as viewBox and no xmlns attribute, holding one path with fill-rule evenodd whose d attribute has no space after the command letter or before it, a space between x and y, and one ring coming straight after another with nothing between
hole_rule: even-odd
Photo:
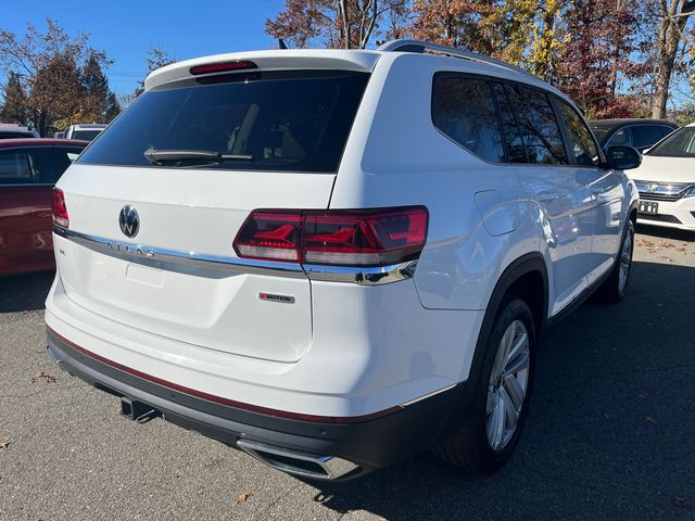
<instances>
[{"instance_id":1,"label":"dark lower rear bumper with red reflector line on white SUV","mask_svg":"<svg viewBox=\"0 0 695 521\"><path fill-rule=\"evenodd\" d=\"M172 423L245 449L256 457L258 452L254 454L249 447L266 446L270 447L269 452L280 449L280 453L287 450L287 454L324 460L334 458L339 466L341 462L354 463L342 467L350 468L348 473L333 476L316 474L311 469L307 472L301 466L294 468L290 463L283 467L265 460L287 472L316 479L355 478L432 448L456 424L464 402L465 382L407 407L384 411L383 416L376 419L367 418L357 422L303 421L215 403L175 389L167 382L135 374L124 366L118 367L115 363L90 354L50 329L48 352L62 369L91 385L146 404Z\"/></svg>"}]
</instances>

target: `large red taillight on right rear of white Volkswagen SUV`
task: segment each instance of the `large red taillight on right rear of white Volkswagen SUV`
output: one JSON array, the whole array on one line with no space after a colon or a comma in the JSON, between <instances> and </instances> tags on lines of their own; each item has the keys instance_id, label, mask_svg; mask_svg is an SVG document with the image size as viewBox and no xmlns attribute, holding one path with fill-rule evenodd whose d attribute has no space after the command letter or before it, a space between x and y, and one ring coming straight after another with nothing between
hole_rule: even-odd
<instances>
[{"instance_id":1,"label":"large red taillight on right rear of white Volkswagen SUV","mask_svg":"<svg viewBox=\"0 0 695 521\"><path fill-rule=\"evenodd\" d=\"M424 206L366 211L254 211L235 239L240 257L337 266L388 266L417 258Z\"/></svg>"}]
</instances>

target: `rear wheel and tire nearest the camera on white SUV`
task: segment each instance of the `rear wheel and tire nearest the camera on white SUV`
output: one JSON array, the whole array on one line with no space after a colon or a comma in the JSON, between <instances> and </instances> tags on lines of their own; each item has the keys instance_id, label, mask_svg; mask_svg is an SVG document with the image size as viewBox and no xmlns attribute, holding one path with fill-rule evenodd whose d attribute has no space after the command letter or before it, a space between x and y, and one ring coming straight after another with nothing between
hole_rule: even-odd
<instances>
[{"instance_id":1,"label":"rear wheel and tire nearest the camera on white SUV","mask_svg":"<svg viewBox=\"0 0 695 521\"><path fill-rule=\"evenodd\" d=\"M475 384L475 387L470 390L475 393L470 410L462 411L465 418L458 432L433 450L437 457L473 474L494 472L511 457L526 422L533 386L536 346L533 323L533 315L526 302L516 296L503 298L490 336L484 344L485 351L480 374L477 376L478 378L469 378L469 382ZM528 341L526 366L520 364L520 358L516 360L516 364L511 364L515 361L515 356L508 357L506 365L500 364L503 357L498 358L498 354L504 353L503 340L506 341L508 335L511 335L513 346L526 335ZM516 356L520 356L522 351L526 350L520 347ZM507 377L497 376L501 368L514 370L514 367L510 367L513 365L523 366L526 369L521 368L516 373L510 372ZM493 370L495 378L492 378ZM516 381L516 384L510 381L509 377ZM521 385L522 383L523 394L519 399L517 384ZM516 394L516 401L511 399L514 394ZM504 407L505 396L508 398L509 406L515 403L520 404L519 408L514 407L514 410L518 412L518 419L513 429L510 423L514 414L511 409L507 410ZM502 401L498 399L500 397ZM500 410L501 406L502 410ZM495 419L500 420L500 418L503 420L502 425L498 421L495 422ZM509 427L508 431L507 427Z\"/></svg>"}]
</instances>

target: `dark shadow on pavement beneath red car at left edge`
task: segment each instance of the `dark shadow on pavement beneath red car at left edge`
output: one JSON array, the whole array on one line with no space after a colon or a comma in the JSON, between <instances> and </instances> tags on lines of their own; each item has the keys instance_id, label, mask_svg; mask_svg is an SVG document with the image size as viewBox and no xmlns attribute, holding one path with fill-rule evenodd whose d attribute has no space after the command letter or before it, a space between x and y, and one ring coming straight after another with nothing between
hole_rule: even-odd
<instances>
[{"instance_id":1,"label":"dark shadow on pavement beneath red car at left edge","mask_svg":"<svg viewBox=\"0 0 695 521\"><path fill-rule=\"evenodd\" d=\"M0 278L0 313L43 309L55 271Z\"/></svg>"}]
</instances>

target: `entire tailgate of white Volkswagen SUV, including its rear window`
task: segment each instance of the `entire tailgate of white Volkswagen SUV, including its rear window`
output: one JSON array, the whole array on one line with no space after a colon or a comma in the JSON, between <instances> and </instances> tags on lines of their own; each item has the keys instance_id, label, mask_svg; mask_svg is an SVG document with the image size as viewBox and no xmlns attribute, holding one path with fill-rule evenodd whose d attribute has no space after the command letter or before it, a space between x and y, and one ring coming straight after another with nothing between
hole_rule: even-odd
<instances>
[{"instance_id":1,"label":"entire tailgate of white Volkswagen SUV, including its rear window","mask_svg":"<svg viewBox=\"0 0 695 521\"><path fill-rule=\"evenodd\" d=\"M254 208L328 206L367 78L253 72L146 91L59 183L68 298L199 347L301 358L312 341L308 279L291 259L249 266L232 241Z\"/></svg>"}]
</instances>

